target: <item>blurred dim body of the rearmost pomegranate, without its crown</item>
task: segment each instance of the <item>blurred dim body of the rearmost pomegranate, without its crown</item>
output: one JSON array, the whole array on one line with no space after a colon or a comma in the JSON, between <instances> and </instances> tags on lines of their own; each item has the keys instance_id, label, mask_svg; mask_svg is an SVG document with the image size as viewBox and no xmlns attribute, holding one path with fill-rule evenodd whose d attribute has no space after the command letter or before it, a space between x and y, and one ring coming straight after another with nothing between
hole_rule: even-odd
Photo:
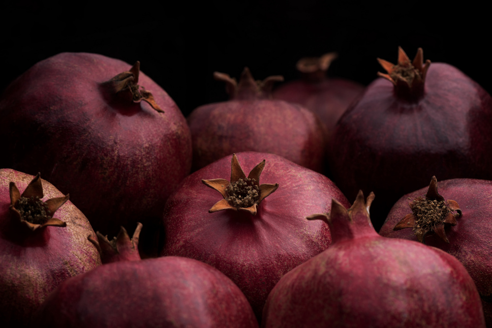
<instances>
[{"instance_id":1,"label":"blurred dim body of the rearmost pomegranate, without its crown","mask_svg":"<svg viewBox=\"0 0 492 328\"><path fill-rule=\"evenodd\" d=\"M303 79L280 85L273 96L301 104L316 113L330 137L338 119L364 88L357 82L339 78L325 78L319 82Z\"/></svg>"}]
</instances>

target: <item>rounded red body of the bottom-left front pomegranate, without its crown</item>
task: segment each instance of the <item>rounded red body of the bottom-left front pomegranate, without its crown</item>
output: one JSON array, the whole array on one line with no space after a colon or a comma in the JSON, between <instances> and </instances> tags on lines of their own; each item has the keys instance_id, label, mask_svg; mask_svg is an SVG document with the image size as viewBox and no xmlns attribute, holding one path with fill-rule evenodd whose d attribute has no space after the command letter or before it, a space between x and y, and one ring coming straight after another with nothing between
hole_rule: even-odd
<instances>
[{"instance_id":1,"label":"rounded red body of the bottom-left front pomegranate, without its crown","mask_svg":"<svg viewBox=\"0 0 492 328\"><path fill-rule=\"evenodd\" d=\"M230 279L180 257L115 262L74 277L35 318L53 328L258 327Z\"/></svg>"}]
</instances>

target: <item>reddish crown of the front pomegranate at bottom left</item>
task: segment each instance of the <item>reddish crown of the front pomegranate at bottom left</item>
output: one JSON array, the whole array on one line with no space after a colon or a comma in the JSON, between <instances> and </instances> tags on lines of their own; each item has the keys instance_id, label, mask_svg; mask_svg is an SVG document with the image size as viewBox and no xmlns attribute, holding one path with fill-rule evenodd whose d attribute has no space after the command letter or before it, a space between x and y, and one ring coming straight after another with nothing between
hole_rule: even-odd
<instances>
[{"instance_id":1,"label":"reddish crown of the front pomegranate at bottom left","mask_svg":"<svg viewBox=\"0 0 492 328\"><path fill-rule=\"evenodd\" d=\"M103 236L100 232L96 232L97 240L92 236L88 236L87 239L97 248L103 264L122 260L138 261L141 259L138 253L138 240L141 230L142 223L137 222L137 228L133 233L132 239L130 239L126 229L123 227L120 228L118 236L111 240L108 239L108 236Z\"/></svg>"}]
</instances>

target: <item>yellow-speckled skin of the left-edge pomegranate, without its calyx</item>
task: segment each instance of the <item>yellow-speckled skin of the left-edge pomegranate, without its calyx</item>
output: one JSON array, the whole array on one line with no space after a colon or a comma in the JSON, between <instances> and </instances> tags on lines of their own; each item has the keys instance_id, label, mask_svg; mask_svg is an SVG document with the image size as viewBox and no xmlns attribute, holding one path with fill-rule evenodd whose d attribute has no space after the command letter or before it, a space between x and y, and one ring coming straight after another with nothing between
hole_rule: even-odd
<instances>
[{"instance_id":1,"label":"yellow-speckled skin of the left-edge pomegranate, without its calyx","mask_svg":"<svg viewBox=\"0 0 492 328\"><path fill-rule=\"evenodd\" d=\"M9 183L22 193L33 176L0 170L0 322L2 327L26 327L34 311L62 281L101 264L88 236L96 237L87 218L70 201L54 217L66 227L31 231L10 215ZM42 180L44 198L63 194ZM15 218L15 217L14 217Z\"/></svg>"}]
</instances>

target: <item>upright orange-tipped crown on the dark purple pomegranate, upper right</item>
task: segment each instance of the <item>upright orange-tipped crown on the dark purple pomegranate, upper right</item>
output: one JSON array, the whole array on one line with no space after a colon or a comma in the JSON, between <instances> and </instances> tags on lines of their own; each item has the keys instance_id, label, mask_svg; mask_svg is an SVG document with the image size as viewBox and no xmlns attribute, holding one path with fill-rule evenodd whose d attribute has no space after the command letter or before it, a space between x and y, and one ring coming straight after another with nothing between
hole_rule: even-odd
<instances>
[{"instance_id":1,"label":"upright orange-tipped crown on the dark purple pomegranate, upper right","mask_svg":"<svg viewBox=\"0 0 492 328\"><path fill-rule=\"evenodd\" d=\"M398 96L407 100L415 100L424 94L424 83L431 60L426 60L424 64L422 48L417 50L413 62L410 62L401 47L398 47L398 64L395 65L379 58L377 60L388 72L388 74L378 72L377 75L391 81L395 85L395 93Z\"/></svg>"}]
</instances>

